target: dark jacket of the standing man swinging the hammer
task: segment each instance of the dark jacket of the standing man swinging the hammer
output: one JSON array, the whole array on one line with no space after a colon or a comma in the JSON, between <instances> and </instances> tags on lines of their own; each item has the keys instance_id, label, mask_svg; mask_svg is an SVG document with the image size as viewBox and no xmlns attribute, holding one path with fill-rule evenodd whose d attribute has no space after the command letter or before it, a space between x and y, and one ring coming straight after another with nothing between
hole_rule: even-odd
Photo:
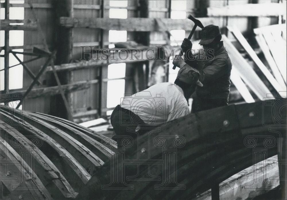
<instances>
[{"instance_id":1,"label":"dark jacket of the standing man swinging the hammer","mask_svg":"<svg viewBox=\"0 0 287 200\"><path fill-rule=\"evenodd\" d=\"M214 52L214 56L206 58L196 56L195 60L185 59L185 62L200 72L199 80L203 87L196 88L197 97L202 99L225 99L228 102L230 92L230 72L232 64L223 43L222 46ZM203 58L200 60L199 58Z\"/></svg>"}]
</instances>

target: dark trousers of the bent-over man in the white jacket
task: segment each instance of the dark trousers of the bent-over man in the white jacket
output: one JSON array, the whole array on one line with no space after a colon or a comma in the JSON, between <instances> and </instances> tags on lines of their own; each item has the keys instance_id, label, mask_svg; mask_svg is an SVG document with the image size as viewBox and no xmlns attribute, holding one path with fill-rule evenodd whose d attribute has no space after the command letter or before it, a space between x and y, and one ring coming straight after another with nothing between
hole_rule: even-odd
<instances>
[{"instance_id":1,"label":"dark trousers of the bent-over man in the white jacket","mask_svg":"<svg viewBox=\"0 0 287 200\"><path fill-rule=\"evenodd\" d=\"M125 138L135 139L137 135L142 134L141 130L136 131L137 126L145 125L144 121L132 111L117 105L110 116L110 122L114 128L115 136L113 139L117 141L118 148L122 147L121 142Z\"/></svg>"}]
</instances>

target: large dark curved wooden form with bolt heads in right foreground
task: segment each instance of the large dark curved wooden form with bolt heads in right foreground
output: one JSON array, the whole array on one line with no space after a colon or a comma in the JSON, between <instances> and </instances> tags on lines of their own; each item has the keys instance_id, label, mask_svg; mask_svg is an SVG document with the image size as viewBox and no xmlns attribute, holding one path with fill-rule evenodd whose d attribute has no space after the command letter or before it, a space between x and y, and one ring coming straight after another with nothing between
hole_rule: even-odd
<instances>
[{"instance_id":1,"label":"large dark curved wooden form with bolt heads in right foreground","mask_svg":"<svg viewBox=\"0 0 287 200\"><path fill-rule=\"evenodd\" d=\"M121 156L118 154L119 150L115 152L115 158L111 159L115 163L107 162L96 172L86 187L80 191L79 198L88 199L100 191L102 193L98 198L107 199L194 198L198 192L210 189L214 183L221 182L261 161L262 158L253 159L254 149L245 144L246 136L263 136L257 141L257 148L265 147L264 139L272 137L274 146L266 147L268 154L265 158L277 153L275 145L277 135L269 131L270 126L262 124L263 118L266 123L272 122L272 112L266 108L264 111L269 117L263 116L262 106L262 102L255 102L219 107L173 120L165 126L157 127L159 130L156 131L148 130L149 132L135 140L139 149L126 149L125 159L119 159ZM176 139L182 138L183 142L176 142ZM185 145L181 145L184 143ZM175 144L178 148L174 148ZM163 170L165 163L163 155L168 151L176 152L176 156L169 157L169 161L176 160L177 170L174 174L166 175ZM113 188L118 187L118 183L113 182L111 174L120 170L117 166L121 167L122 162L128 165L125 166L127 174L120 185L133 186L130 190ZM169 170L175 168L170 167ZM158 180L157 177L161 179ZM174 189L175 177L179 188L185 185L184 190ZM155 188L155 185L159 186L163 181L166 181L163 188ZM106 190L102 190L102 185L107 187Z\"/></svg>"}]
</instances>

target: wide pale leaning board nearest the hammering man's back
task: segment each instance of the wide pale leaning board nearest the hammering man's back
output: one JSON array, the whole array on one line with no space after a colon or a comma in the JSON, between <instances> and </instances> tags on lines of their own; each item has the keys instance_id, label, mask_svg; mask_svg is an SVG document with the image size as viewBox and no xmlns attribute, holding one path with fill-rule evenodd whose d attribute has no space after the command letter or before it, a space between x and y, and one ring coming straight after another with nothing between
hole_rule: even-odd
<instances>
[{"instance_id":1,"label":"wide pale leaning board nearest the hammering man's back","mask_svg":"<svg viewBox=\"0 0 287 200\"><path fill-rule=\"evenodd\" d=\"M259 99L266 97L266 94L271 92L254 72L252 67L247 63L247 61L240 55L238 50L232 45L229 39L222 35L222 41L229 52L229 57L233 63L233 68L239 72L240 77L249 86L249 88L257 95ZM240 66L240 68L238 68Z\"/></svg>"}]
</instances>

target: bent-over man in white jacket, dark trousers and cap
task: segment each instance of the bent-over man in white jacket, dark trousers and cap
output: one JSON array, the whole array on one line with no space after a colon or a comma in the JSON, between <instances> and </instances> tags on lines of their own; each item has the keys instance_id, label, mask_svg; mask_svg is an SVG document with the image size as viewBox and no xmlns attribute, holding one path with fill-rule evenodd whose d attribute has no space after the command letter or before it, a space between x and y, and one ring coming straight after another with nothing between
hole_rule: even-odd
<instances>
[{"instance_id":1,"label":"bent-over man in white jacket, dark trousers and cap","mask_svg":"<svg viewBox=\"0 0 287 200\"><path fill-rule=\"evenodd\" d=\"M122 136L134 138L137 126L160 126L189 114L186 97L191 86L202 86L198 80L199 72L185 64L183 59L175 59L173 64L180 67L174 84L155 84L132 96L124 97L121 104L115 107L110 121L118 145ZM137 132L140 134L140 131Z\"/></svg>"}]
</instances>

